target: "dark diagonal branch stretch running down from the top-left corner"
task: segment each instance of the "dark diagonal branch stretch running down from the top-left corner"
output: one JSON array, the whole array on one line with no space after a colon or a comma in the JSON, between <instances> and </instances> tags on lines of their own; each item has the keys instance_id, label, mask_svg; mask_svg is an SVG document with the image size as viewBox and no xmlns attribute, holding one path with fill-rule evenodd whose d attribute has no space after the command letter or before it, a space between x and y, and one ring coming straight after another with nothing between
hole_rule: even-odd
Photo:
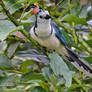
<instances>
[{"instance_id":1,"label":"dark diagonal branch stretch running down from the top-left corner","mask_svg":"<svg viewBox=\"0 0 92 92\"><path fill-rule=\"evenodd\" d=\"M6 13L6 15L8 16L8 18L16 25L19 26L19 22L13 17L11 16L10 12L6 9L3 0L0 1L0 5L3 8L4 12Z\"/></svg>"}]
</instances>

